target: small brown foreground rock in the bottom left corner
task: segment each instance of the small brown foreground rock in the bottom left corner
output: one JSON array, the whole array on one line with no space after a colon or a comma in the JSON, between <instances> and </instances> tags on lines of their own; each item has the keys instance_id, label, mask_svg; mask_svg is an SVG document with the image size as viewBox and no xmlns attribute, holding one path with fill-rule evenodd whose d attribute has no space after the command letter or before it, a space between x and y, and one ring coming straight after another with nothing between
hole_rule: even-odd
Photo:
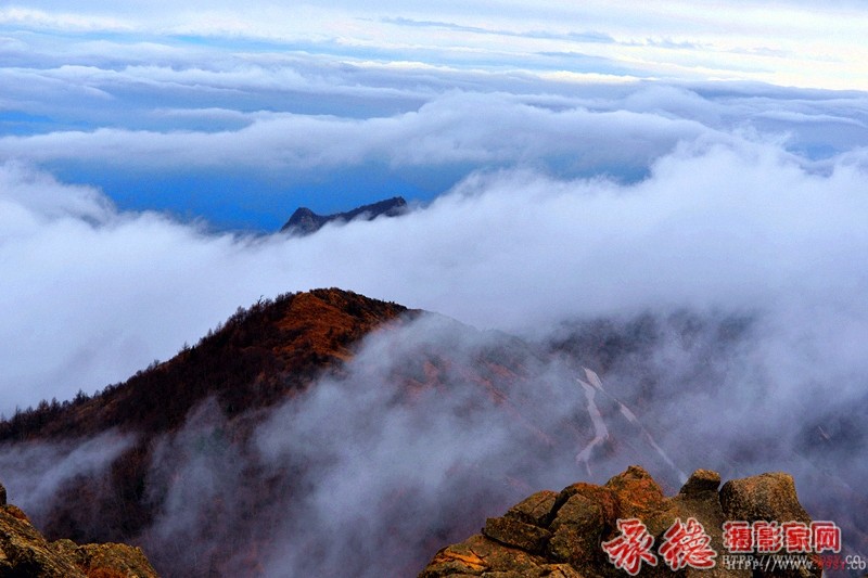
<instances>
[{"instance_id":1,"label":"small brown foreground rock in the bottom left corner","mask_svg":"<svg viewBox=\"0 0 868 578\"><path fill-rule=\"evenodd\" d=\"M139 548L126 544L49 542L0 486L0 577L156 578Z\"/></svg>"}]
</instances>

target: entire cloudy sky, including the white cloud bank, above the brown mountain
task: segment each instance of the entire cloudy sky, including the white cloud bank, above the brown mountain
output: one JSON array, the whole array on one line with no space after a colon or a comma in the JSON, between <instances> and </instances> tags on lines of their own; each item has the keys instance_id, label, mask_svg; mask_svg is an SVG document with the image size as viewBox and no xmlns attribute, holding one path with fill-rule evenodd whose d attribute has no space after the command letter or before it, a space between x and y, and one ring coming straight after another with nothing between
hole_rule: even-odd
<instances>
[{"instance_id":1,"label":"entire cloudy sky, including the white cloud bank, above the brown mountain","mask_svg":"<svg viewBox=\"0 0 868 578\"><path fill-rule=\"evenodd\" d=\"M809 414L864 453L864 2L74 4L0 4L0 413L339 286L528 339L745 316L719 387L649 410L661 444L715 467L682 432L758 432L789 468ZM400 218L276 233L398 194ZM689 348L646 369L690 374Z\"/></svg>"}]
</instances>

